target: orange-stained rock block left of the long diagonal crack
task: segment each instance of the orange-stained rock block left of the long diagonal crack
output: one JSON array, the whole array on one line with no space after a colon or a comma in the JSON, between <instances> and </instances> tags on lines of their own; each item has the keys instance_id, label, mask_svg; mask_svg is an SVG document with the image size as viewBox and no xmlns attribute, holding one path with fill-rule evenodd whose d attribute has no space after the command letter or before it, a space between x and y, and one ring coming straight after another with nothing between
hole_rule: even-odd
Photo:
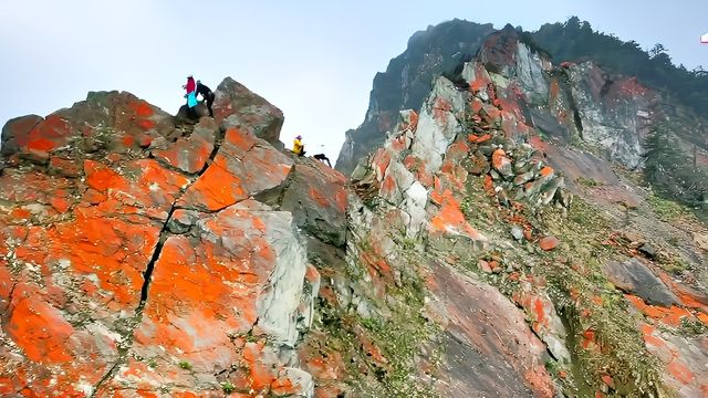
<instances>
[{"instance_id":1,"label":"orange-stained rock block left of the long diagonal crack","mask_svg":"<svg viewBox=\"0 0 708 398\"><path fill-rule=\"evenodd\" d=\"M0 182L0 395L90 395L119 356L143 273L187 179L155 160ZM23 392L23 394L24 394Z\"/></svg>"}]
</instances>

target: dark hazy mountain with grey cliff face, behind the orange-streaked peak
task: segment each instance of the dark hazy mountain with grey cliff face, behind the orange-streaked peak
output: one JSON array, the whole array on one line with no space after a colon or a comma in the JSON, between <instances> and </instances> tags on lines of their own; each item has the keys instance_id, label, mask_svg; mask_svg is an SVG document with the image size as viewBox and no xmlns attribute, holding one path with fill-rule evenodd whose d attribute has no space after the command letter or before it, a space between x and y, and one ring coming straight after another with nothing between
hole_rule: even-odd
<instances>
[{"instance_id":1,"label":"dark hazy mountain with grey cliff face, behind the orange-streaked peak","mask_svg":"<svg viewBox=\"0 0 708 398\"><path fill-rule=\"evenodd\" d=\"M358 128L346 132L336 168L351 174L357 159L375 150L386 133L392 132L392 114L417 108L423 95L408 95L409 81L429 82L436 75L454 74L456 65L459 69L461 61L472 57L506 80L510 73L519 74L525 94L522 111L529 125L543 135L555 135L565 142L574 139L574 144L587 143L612 160L635 169L642 164L643 142L660 115L662 119L670 121L670 130L678 138L675 145L685 151L686 165L691 157L699 164L708 160L706 133L701 128L708 121L700 112L700 104L708 100L699 95L700 87L708 84L705 74L674 66L665 53L649 57L635 42L623 43L594 32L587 22L581 25L576 18L565 24L544 25L532 33L507 25L499 31L503 32L500 35L491 34L489 25L481 28L454 20L416 33L406 52L392 60L386 73L374 80L365 121ZM417 35L435 39L420 44L415 40ZM528 54L514 54L516 48L507 46L519 40L528 49L520 51ZM550 53L535 41L549 48ZM464 50L450 50L462 43ZM426 64L410 56L415 51L423 51L425 60L437 61ZM514 56L525 61L521 61L524 63L518 71L510 71L507 62ZM641 72L646 81L638 81L632 71ZM503 80L494 83L507 88ZM420 93L425 92L423 84L418 87Z\"/></svg>"}]
</instances>

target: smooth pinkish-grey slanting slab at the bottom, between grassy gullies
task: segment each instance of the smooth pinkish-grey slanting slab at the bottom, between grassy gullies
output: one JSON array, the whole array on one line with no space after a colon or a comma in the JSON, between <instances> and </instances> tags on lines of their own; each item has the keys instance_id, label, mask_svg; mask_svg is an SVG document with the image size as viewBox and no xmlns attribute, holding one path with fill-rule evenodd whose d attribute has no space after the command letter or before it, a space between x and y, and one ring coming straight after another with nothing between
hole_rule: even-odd
<instances>
[{"instance_id":1,"label":"smooth pinkish-grey slanting slab at the bottom, between grassy gullies","mask_svg":"<svg viewBox=\"0 0 708 398\"><path fill-rule=\"evenodd\" d=\"M464 350L455 350L448 357L448 366L454 367L450 379L465 388L461 396L480 396L483 390L478 389L478 384L496 380L520 387L518 396L530 388L537 397L553 397L553 383L540 360L545 346L529 329L523 313L493 287L467 277L451 266L436 263L433 272L444 293L431 307L438 307L445 314L442 324L447 331L454 331L457 341L475 347L471 357ZM489 338L489 331L494 331L492 338ZM477 358L477 363L482 360L485 366L471 365L476 363L472 358ZM498 385L492 383L490 386ZM455 388L455 391L460 389ZM496 390L489 392L493 395ZM458 396L450 389L444 394Z\"/></svg>"}]
</instances>

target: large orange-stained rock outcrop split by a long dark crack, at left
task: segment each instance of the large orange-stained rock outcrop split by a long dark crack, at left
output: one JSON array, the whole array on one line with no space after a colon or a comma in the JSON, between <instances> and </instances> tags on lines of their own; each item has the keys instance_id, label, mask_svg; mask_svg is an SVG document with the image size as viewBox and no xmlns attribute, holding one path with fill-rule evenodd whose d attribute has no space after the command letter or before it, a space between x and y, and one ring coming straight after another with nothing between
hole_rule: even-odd
<instances>
[{"instance_id":1,"label":"large orange-stained rock outcrop split by a long dark crack, at left","mask_svg":"<svg viewBox=\"0 0 708 398\"><path fill-rule=\"evenodd\" d=\"M319 273L292 213L249 199L294 164L249 93L220 85L226 130L117 92L6 125L0 395L313 395Z\"/></svg>"}]
</instances>

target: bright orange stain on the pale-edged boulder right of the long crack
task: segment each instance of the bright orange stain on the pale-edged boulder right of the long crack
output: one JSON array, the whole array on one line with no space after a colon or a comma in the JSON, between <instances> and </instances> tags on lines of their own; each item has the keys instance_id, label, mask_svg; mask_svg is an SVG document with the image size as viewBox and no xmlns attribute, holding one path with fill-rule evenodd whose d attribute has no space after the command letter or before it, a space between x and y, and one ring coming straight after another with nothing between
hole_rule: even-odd
<instances>
[{"instance_id":1,"label":"bright orange stain on the pale-edged boulder right of the long crack","mask_svg":"<svg viewBox=\"0 0 708 398\"><path fill-rule=\"evenodd\" d=\"M165 242L153 274L150 301L135 331L136 353L163 356L157 347L164 347L195 371L240 363L246 371L230 379L260 392L299 387L281 373L282 366L273 362L277 356L262 342L229 338L251 329L259 333L259 327L253 328L257 305L277 261L275 248L269 243L270 224L260 214L236 207L204 214L200 240L175 235ZM212 235L219 240L207 238ZM309 280L316 276L316 270L308 270Z\"/></svg>"}]
</instances>

